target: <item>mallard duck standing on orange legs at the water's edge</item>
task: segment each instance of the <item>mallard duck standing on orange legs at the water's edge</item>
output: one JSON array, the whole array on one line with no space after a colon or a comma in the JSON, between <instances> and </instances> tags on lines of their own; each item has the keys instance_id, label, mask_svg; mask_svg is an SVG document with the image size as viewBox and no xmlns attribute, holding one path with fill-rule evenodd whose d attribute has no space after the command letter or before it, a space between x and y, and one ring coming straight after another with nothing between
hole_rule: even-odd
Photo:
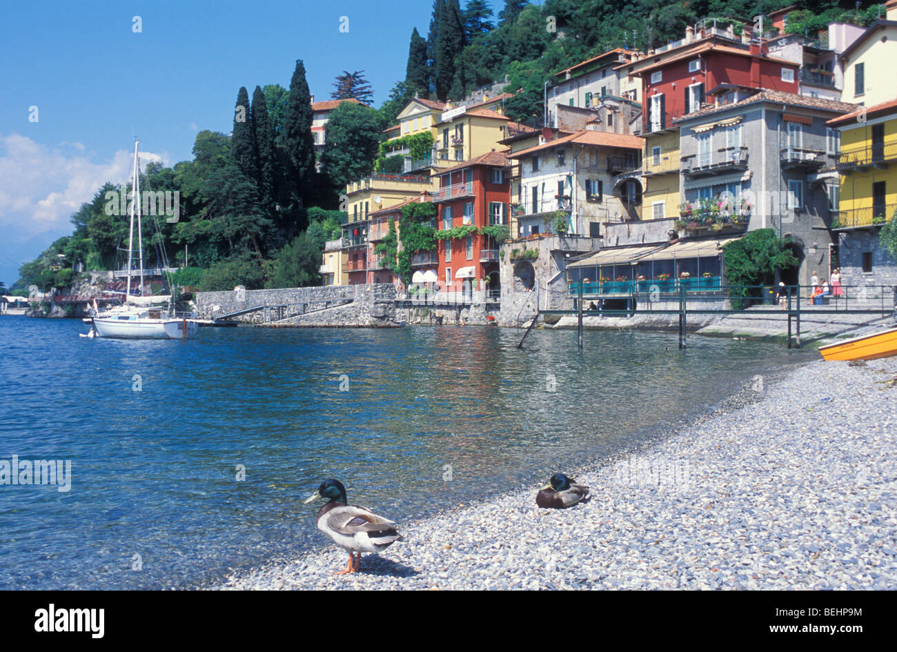
<instances>
[{"instance_id":1,"label":"mallard duck standing on orange legs at the water's edge","mask_svg":"<svg viewBox=\"0 0 897 652\"><path fill-rule=\"evenodd\" d=\"M318 498L328 499L327 504L318 510L318 530L349 552L349 565L337 571L336 575L358 570L361 552L380 552L402 539L393 521L377 516L366 507L349 505L343 482L333 478L321 482L318 491L311 494L305 504ZM355 553L358 554L357 559Z\"/></svg>"}]
</instances>

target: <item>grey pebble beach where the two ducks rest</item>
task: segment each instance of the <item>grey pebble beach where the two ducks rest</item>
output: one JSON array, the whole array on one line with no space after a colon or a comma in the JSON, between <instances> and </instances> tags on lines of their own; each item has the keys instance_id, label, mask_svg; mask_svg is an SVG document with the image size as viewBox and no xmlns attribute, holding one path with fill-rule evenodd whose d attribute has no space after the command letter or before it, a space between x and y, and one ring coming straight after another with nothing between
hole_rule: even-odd
<instances>
[{"instance_id":1,"label":"grey pebble beach where the two ducks rest","mask_svg":"<svg viewBox=\"0 0 897 652\"><path fill-rule=\"evenodd\" d=\"M538 509L534 478L400 524L358 573L333 575L347 557L327 541L222 588L893 589L895 375L897 358L758 376L648 448L563 469L588 503Z\"/></svg>"}]
</instances>

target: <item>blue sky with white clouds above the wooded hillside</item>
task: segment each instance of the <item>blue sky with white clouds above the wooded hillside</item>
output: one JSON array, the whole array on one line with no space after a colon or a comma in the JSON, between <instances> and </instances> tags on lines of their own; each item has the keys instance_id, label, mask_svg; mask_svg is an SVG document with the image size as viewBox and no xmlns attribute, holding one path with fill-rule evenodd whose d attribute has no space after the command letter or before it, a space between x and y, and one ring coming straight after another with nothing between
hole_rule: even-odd
<instances>
[{"instance_id":1,"label":"blue sky with white clouds above the wooded hillside","mask_svg":"<svg viewBox=\"0 0 897 652\"><path fill-rule=\"evenodd\" d=\"M463 4L463 3L462 3ZM494 4L494 3L493 3ZM375 105L405 77L429 0L25 2L0 20L0 281L71 232L69 217L144 161L191 157L196 133L229 133L240 86L288 87L296 59L327 100L336 74L364 70ZM141 33L133 17L142 19ZM342 16L349 30L339 30ZM30 122L30 107L38 122Z\"/></svg>"}]
</instances>

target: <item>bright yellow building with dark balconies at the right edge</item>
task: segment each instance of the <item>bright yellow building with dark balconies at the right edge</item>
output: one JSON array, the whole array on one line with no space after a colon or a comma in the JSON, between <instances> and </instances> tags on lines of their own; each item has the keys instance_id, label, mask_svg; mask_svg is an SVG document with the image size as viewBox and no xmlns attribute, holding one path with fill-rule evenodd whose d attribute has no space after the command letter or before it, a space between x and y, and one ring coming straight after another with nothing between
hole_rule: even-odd
<instances>
[{"instance_id":1,"label":"bright yellow building with dark balconies at the right edge","mask_svg":"<svg viewBox=\"0 0 897 652\"><path fill-rule=\"evenodd\" d=\"M897 211L897 99L828 124L840 131L840 198L833 202L838 204L833 228L883 224Z\"/></svg>"}]
</instances>

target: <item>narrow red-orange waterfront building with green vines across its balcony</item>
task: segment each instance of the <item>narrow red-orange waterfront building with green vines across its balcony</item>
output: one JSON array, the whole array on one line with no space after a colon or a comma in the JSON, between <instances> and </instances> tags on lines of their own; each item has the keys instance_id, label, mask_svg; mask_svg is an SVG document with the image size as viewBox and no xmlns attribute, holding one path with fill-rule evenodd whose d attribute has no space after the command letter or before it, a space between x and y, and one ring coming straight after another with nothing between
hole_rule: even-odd
<instances>
[{"instance_id":1,"label":"narrow red-orange waterfront building with green vines across its balcony","mask_svg":"<svg viewBox=\"0 0 897 652\"><path fill-rule=\"evenodd\" d=\"M477 229L508 223L510 164L504 152L487 152L440 173L440 189L432 195L439 207L437 229ZM437 250L440 289L460 291L465 282L475 290L488 285L494 299L501 291L499 247L491 235L473 231L440 239ZM487 283L488 279L488 283Z\"/></svg>"}]
</instances>

